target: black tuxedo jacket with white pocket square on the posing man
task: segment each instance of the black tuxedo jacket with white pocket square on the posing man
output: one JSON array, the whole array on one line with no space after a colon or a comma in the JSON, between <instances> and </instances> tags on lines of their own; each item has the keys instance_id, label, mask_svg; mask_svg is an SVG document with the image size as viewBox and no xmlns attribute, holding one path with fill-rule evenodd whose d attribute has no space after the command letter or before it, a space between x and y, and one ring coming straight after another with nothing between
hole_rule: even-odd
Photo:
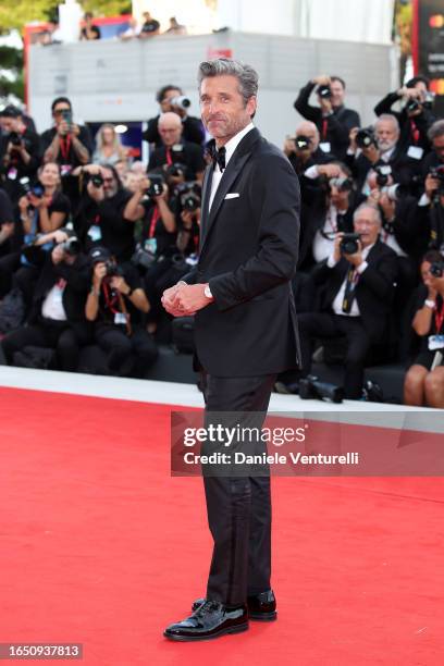
<instances>
[{"instance_id":1,"label":"black tuxedo jacket with white pocket square on the posing man","mask_svg":"<svg viewBox=\"0 0 444 666\"><path fill-rule=\"evenodd\" d=\"M202 186L199 262L184 280L209 283L214 301L195 317L197 360L215 377L273 374L298 365L291 280L300 194L285 156L254 128L234 151L209 212Z\"/></svg>"}]
</instances>

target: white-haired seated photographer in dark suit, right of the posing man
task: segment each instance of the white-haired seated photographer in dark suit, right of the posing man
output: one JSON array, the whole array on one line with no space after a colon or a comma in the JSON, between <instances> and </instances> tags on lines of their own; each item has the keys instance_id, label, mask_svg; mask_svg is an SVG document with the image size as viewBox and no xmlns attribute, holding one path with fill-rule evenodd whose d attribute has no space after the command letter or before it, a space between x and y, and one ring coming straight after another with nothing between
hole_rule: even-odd
<instances>
[{"instance_id":1,"label":"white-haired seated photographer in dark suit, right of the posing man","mask_svg":"<svg viewBox=\"0 0 444 666\"><path fill-rule=\"evenodd\" d=\"M329 259L314 273L322 285L321 312L299 314L303 377L310 372L317 338L346 337L345 396L359 399L366 357L385 340L396 281L396 255L381 243L379 210L362 203L354 214L358 237L336 234Z\"/></svg>"}]
</instances>

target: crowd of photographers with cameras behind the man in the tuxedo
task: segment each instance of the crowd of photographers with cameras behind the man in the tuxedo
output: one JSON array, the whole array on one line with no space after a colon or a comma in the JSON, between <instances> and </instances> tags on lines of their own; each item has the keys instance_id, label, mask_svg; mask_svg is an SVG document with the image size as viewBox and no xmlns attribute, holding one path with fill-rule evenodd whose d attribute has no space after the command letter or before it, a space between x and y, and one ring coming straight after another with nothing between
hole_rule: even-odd
<instances>
[{"instance_id":1,"label":"crowd of photographers with cameras behind the man in the tuxedo","mask_svg":"<svg viewBox=\"0 0 444 666\"><path fill-rule=\"evenodd\" d=\"M9 363L144 377L159 342L176 324L181 334L160 297L198 260L211 156L183 91L164 86L157 100L148 165L128 161L110 124L94 146L66 98L40 136L17 109L1 112ZM303 379L316 394L307 378L323 354L344 366L344 395L359 399L366 365L400 361L406 404L444 407L444 120L428 81L388 94L371 127L345 106L336 76L310 81L294 106L305 120L283 148L301 188L293 287L303 368L279 385L294 392Z\"/></svg>"}]
</instances>

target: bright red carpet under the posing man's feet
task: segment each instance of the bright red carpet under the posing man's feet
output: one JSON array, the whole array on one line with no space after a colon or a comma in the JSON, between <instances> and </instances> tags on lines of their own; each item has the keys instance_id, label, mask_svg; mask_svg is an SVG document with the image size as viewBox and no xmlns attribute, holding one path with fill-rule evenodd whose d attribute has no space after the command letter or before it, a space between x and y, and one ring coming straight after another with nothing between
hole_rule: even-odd
<instances>
[{"instance_id":1,"label":"bright red carpet under the posing man's feet","mask_svg":"<svg viewBox=\"0 0 444 666\"><path fill-rule=\"evenodd\" d=\"M278 622L175 644L210 538L200 480L170 477L170 408L0 405L0 642L82 642L91 666L442 664L441 479L273 479Z\"/></svg>"}]
</instances>

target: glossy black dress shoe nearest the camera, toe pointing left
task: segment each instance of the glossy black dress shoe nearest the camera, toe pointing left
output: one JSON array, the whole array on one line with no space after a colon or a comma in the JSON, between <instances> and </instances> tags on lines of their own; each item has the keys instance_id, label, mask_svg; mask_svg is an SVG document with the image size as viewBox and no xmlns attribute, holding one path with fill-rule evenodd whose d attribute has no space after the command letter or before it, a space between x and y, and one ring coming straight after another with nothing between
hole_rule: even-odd
<instances>
[{"instance_id":1,"label":"glossy black dress shoe nearest the camera, toe pointing left","mask_svg":"<svg viewBox=\"0 0 444 666\"><path fill-rule=\"evenodd\" d=\"M246 605L230 607L219 602L205 601L182 622L170 625L163 636L171 641L207 641L238 633L248 629L248 608Z\"/></svg>"}]
</instances>

